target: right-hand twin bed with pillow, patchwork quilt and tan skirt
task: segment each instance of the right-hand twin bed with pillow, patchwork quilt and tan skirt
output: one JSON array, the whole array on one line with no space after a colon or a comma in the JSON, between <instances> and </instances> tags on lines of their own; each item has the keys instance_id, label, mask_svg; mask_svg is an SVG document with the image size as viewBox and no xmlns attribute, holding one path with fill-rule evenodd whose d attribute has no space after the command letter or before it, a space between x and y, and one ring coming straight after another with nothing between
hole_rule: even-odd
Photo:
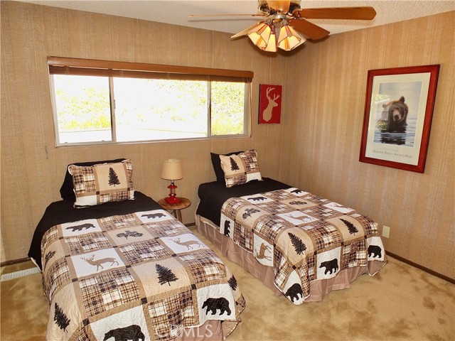
<instances>
[{"instance_id":1,"label":"right-hand twin bed with pillow, patchwork quilt and tan skirt","mask_svg":"<svg viewBox=\"0 0 455 341\"><path fill-rule=\"evenodd\" d=\"M262 178L256 151L211 156L217 180L199 185L198 232L275 295L296 305L321 301L385 265L370 218Z\"/></svg>"}]
</instances>

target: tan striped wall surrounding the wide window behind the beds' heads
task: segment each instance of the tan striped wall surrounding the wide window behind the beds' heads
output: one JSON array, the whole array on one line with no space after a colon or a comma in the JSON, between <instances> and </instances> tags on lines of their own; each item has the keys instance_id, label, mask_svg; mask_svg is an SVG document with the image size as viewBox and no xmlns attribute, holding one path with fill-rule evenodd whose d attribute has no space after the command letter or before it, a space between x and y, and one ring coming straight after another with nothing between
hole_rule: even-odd
<instances>
[{"instance_id":1,"label":"tan striped wall surrounding the wide window behind the beds' heads","mask_svg":"<svg viewBox=\"0 0 455 341\"><path fill-rule=\"evenodd\" d=\"M48 55L253 71L253 137L56 148ZM259 82L284 85L284 60L228 33L1 1L1 261L27 256L45 207L60 200L68 163L131 158L134 187L159 200L168 194L163 161L180 159L178 195L193 202L182 212L186 224L194 222L198 184L215 180L210 151L257 148L264 175L279 178L279 158L266 153L279 155L274 141L284 126L259 127L257 103Z\"/></svg>"}]
</instances>

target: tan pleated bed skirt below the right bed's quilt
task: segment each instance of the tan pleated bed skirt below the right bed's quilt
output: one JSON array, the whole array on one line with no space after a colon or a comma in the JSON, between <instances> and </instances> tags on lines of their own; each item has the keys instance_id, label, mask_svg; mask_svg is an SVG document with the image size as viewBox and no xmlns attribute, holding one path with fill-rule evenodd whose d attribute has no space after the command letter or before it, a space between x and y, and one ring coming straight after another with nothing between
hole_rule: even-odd
<instances>
[{"instance_id":1,"label":"tan pleated bed skirt below the right bed's quilt","mask_svg":"<svg viewBox=\"0 0 455 341\"><path fill-rule=\"evenodd\" d=\"M221 234L219 227L212 221L196 215L196 226L198 232L206 237L210 242L215 244L223 256L227 256L230 261L239 264L243 269L250 272L256 278L259 278L265 286L270 288L275 296L282 296L281 293L274 286L274 269L272 266L263 266L255 259L252 253L242 249L236 245L232 239ZM363 274L376 274L384 266L383 262L370 261L368 266L358 266L351 269L344 269L340 271L335 277L311 281L310 283L310 296L305 299L305 302L322 301L333 290L341 290L349 288L350 283L355 281L358 276Z\"/></svg>"}]
</instances>

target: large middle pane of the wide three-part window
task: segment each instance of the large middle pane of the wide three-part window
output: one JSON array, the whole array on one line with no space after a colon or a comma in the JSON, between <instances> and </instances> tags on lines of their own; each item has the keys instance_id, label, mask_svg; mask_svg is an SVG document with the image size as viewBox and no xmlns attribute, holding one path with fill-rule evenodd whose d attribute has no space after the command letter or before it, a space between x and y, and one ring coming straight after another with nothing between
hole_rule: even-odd
<instances>
[{"instance_id":1,"label":"large middle pane of the wide three-part window","mask_svg":"<svg viewBox=\"0 0 455 341\"><path fill-rule=\"evenodd\" d=\"M207 137L208 83L114 77L117 141Z\"/></svg>"}]
</instances>

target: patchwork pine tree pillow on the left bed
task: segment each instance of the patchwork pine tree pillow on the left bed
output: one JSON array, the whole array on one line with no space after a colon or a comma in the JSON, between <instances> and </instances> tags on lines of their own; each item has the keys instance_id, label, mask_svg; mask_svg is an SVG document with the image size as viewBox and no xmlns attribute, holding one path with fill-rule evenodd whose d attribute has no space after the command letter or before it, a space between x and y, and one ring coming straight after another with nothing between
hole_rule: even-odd
<instances>
[{"instance_id":1,"label":"patchwork pine tree pillow on the left bed","mask_svg":"<svg viewBox=\"0 0 455 341\"><path fill-rule=\"evenodd\" d=\"M131 160L94 166L70 165L68 172L73 175L74 207L134 199Z\"/></svg>"}]
</instances>

